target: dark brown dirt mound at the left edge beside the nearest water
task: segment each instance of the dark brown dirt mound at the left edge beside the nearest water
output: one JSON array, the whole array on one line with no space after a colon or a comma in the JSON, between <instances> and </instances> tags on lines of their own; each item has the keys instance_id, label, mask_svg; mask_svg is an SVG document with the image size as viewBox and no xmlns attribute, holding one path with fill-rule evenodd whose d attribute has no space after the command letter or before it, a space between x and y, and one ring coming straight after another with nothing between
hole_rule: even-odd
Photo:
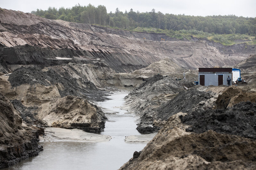
<instances>
[{"instance_id":1,"label":"dark brown dirt mound at the left edge beside the nearest water","mask_svg":"<svg viewBox=\"0 0 256 170\"><path fill-rule=\"evenodd\" d=\"M0 93L0 168L38 155L42 150L37 143L38 130L22 123L20 113Z\"/></svg>"}]
</instances>

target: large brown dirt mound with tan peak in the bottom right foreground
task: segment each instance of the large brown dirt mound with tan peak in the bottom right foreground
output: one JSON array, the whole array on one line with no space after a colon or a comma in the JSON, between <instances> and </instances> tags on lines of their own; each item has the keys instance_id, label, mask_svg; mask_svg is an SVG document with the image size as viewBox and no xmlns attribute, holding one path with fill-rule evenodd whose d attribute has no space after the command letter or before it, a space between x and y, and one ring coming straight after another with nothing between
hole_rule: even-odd
<instances>
[{"instance_id":1,"label":"large brown dirt mound with tan peak in the bottom right foreground","mask_svg":"<svg viewBox=\"0 0 256 170\"><path fill-rule=\"evenodd\" d=\"M185 134L166 125L120 169L236 169L256 166L256 142L209 130Z\"/></svg>"}]
</instances>

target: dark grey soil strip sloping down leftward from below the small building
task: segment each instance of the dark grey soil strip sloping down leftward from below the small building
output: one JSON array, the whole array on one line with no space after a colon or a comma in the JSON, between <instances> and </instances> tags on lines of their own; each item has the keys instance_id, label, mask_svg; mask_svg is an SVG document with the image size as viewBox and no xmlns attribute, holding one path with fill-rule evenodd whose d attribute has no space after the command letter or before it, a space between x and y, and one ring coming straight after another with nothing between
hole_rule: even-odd
<instances>
[{"instance_id":1,"label":"dark grey soil strip sloping down leftward from below the small building","mask_svg":"<svg viewBox=\"0 0 256 170\"><path fill-rule=\"evenodd\" d=\"M178 112L191 112L199 102L206 101L213 97L210 91L201 92L196 90L199 87L200 86L194 86L186 91L182 91L166 104L162 104L157 110L159 113L158 116L163 120L167 120L170 116Z\"/></svg>"}]
</instances>

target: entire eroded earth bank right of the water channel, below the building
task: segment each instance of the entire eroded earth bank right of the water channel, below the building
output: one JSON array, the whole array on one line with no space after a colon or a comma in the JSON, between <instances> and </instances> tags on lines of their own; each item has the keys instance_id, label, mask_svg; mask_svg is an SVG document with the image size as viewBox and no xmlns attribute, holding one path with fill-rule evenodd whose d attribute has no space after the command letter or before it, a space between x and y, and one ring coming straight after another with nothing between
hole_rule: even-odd
<instances>
[{"instance_id":1,"label":"entire eroded earth bank right of the water channel, below the building","mask_svg":"<svg viewBox=\"0 0 256 170\"><path fill-rule=\"evenodd\" d=\"M255 169L255 58L235 66L247 84L192 86L155 75L133 89L126 103L137 129L160 130L120 169Z\"/></svg>"}]
</instances>

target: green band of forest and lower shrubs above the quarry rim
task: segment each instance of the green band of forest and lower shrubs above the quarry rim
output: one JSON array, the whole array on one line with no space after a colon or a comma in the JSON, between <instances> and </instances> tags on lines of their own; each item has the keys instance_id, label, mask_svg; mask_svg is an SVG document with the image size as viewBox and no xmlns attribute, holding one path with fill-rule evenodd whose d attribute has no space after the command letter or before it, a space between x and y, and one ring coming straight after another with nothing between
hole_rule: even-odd
<instances>
[{"instance_id":1,"label":"green band of forest and lower shrubs above the quarry rim","mask_svg":"<svg viewBox=\"0 0 256 170\"><path fill-rule=\"evenodd\" d=\"M228 16L188 16L163 14L162 12L120 12L107 13L104 5L91 4L72 8L49 7L48 10L32 11L47 19L62 19L70 22L98 24L101 26L125 29L136 32L164 33L171 38L191 39L191 36L208 39L223 45L248 42L255 44L256 18ZM249 36L250 35L250 36Z\"/></svg>"}]
</instances>

